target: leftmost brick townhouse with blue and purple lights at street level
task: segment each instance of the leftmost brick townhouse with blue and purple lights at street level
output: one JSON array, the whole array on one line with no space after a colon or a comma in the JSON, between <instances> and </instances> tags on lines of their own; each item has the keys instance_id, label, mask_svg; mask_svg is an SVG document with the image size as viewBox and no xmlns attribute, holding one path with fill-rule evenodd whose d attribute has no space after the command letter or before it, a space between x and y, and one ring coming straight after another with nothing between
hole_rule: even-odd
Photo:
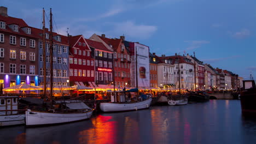
<instances>
[{"instance_id":1,"label":"leftmost brick townhouse with blue and purple lights at street level","mask_svg":"<svg viewBox=\"0 0 256 144\"><path fill-rule=\"evenodd\" d=\"M8 16L7 8L0 11L0 94L21 83L37 86L39 35L24 20Z\"/></svg>"}]
</instances>

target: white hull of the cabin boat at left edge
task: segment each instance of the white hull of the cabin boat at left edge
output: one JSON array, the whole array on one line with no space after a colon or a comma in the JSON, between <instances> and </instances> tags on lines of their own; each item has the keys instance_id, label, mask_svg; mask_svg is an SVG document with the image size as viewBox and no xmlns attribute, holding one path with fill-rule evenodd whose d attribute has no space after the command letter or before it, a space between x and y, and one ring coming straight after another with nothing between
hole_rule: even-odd
<instances>
[{"instance_id":1,"label":"white hull of the cabin boat at left edge","mask_svg":"<svg viewBox=\"0 0 256 144\"><path fill-rule=\"evenodd\" d=\"M0 127L25 124L25 114L0 116Z\"/></svg>"}]
</instances>

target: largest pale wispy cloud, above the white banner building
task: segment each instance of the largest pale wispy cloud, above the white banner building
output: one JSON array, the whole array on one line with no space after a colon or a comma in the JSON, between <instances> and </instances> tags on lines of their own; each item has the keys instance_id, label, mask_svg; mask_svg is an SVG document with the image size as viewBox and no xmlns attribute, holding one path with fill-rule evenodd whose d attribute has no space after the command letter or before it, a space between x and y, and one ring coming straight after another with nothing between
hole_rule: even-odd
<instances>
[{"instance_id":1,"label":"largest pale wispy cloud, above the white banner building","mask_svg":"<svg viewBox=\"0 0 256 144\"><path fill-rule=\"evenodd\" d=\"M107 33L113 35L127 35L132 38L147 39L158 28L156 26L136 24L133 21L125 21L120 23L113 23L113 30Z\"/></svg>"}]
</instances>

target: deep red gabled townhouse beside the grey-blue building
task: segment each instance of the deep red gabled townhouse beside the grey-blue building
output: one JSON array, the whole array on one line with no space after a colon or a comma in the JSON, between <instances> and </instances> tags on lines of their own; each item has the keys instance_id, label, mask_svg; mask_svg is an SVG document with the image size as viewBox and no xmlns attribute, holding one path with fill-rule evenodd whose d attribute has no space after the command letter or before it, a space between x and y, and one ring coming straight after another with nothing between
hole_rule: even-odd
<instances>
[{"instance_id":1,"label":"deep red gabled townhouse beside the grey-blue building","mask_svg":"<svg viewBox=\"0 0 256 144\"><path fill-rule=\"evenodd\" d=\"M69 37L69 81L70 85L75 82L94 82L94 57L83 35Z\"/></svg>"}]
</instances>

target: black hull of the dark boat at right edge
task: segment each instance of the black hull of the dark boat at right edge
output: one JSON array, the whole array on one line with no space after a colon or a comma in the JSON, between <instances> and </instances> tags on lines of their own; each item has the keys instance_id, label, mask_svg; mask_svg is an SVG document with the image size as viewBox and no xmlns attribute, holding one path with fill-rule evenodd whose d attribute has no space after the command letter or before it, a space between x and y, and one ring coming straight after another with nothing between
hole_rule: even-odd
<instances>
[{"instance_id":1,"label":"black hull of the dark boat at right edge","mask_svg":"<svg viewBox=\"0 0 256 144\"><path fill-rule=\"evenodd\" d=\"M256 88L242 91L240 101L243 116L256 117Z\"/></svg>"}]
</instances>

